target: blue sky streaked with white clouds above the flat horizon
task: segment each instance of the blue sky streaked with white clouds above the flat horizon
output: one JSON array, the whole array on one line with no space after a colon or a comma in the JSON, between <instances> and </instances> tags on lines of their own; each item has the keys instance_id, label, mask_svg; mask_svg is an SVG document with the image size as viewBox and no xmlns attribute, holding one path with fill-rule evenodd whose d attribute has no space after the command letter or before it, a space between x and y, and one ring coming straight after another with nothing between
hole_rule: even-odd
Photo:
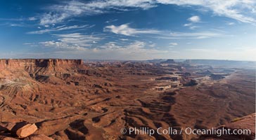
<instances>
[{"instance_id":1,"label":"blue sky streaked with white clouds above the flat horizon","mask_svg":"<svg viewBox=\"0 0 256 140\"><path fill-rule=\"evenodd\" d=\"M0 58L256 60L255 0L3 0Z\"/></svg>"}]
</instances>

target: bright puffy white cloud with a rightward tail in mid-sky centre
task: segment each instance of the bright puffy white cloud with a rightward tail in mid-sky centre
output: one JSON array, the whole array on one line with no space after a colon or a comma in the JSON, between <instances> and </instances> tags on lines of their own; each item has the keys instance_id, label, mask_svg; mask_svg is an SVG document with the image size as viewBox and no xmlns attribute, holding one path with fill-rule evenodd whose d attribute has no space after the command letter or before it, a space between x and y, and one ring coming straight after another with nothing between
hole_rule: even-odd
<instances>
[{"instance_id":1,"label":"bright puffy white cloud with a rightward tail in mid-sky centre","mask_svg":"<svg viewBox=\"0 0 256 140\"><path fill-rule=\"evenodd\" d=\"M135 36L136 34L159 34L160 31L154 29L134 29L129 27L128 24L115 26L110 25L104 28L104 31L110 31L115 34L122 34L125 36Z\"/></svg>"}]
</instances>

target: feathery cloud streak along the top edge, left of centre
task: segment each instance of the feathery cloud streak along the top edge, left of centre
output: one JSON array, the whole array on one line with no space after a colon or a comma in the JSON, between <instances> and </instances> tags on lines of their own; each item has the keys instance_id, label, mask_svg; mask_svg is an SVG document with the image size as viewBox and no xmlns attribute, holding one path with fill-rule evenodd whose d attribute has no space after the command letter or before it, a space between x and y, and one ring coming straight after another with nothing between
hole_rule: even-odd
<instances>
[{"instance_id":1,"label":"feathery cloud streak along the top edge, left of centre","mask_svg":"<svg viewBox=\"0 0 256 140\"><path fill-rule=\"evenodd\" d=\"M79 15L96 15L108 12L111 8L133 7L133 8L151 8L152 2L146 0L110 0L110 1L66 1L60 5L50 6L49 13L41 16L40 25L49 25L52 23L63 22L63 20Z\"/></svg>"}]
</instances>

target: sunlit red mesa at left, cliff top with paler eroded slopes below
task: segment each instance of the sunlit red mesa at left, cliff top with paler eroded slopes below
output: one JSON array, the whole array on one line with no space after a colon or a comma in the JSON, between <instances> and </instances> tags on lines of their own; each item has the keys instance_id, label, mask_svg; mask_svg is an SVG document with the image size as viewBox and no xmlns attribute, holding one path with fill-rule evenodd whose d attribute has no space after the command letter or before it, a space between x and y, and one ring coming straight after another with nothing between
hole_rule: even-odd
<instances>
[{"instance_id":1,"label":"sunlit red mesa at left, cliff top with paler eroded slopes below","mask_svg":"<svg viewBox=\"0 0 256 140\"><path fill-rule=\"evenodd\" d=\"M0 93L31 91L36 81L60 83L60 78L82 69L82 63L82 59L0 59Z\"/></svg>"}]
</instances>

